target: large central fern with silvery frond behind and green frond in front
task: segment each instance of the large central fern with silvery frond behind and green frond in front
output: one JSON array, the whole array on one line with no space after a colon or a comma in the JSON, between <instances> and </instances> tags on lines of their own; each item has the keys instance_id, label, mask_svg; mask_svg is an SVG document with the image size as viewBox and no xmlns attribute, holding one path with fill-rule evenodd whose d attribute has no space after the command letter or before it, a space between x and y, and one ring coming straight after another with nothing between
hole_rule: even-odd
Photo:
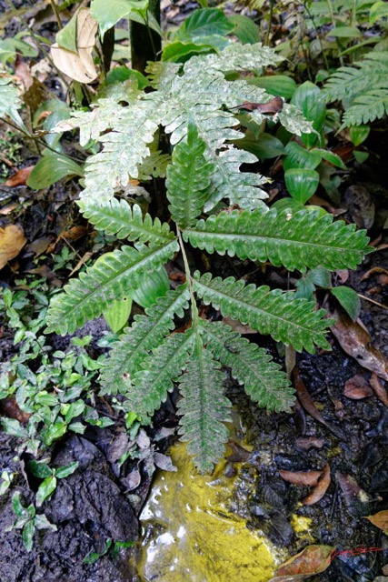
<instances>
[{"instance_id":1,"label":"large central fern with silvery frond behind and green frond in front","mask_svg":"<svg viewBox=\"0 0 388 582\"><path fill-rule=\"evenodd\" d=\"M103 394L123 395L124 408L146 424L178 383L180 433L203 472L212 470L227 439L224 422L230 418L231 403L224 396L221 366L231 369L254 402L270 410L289 411L293 388L264 349L223 322L200 317L197 301L309 352L314 346L329 347L325 332L332 322L323 310L314 310L312 302L295 298L293 292L191 273L185 244L209 253L269 260L301 272L318 265L353 268L367 252L364 232L333 222L330 215L308 209L270 210L260 188L264 177L240 171L242 164L257 159L230 143L244 135L233 107L273 97L244 80L229 82L224 73L278 60L274 51L261 45L235 44L219 55L194 56L184 66L153 64L149 75L154 92L119 85L92 111L78 112L58 125L58 131L79 127L82 143L91 137L102 143L101 151L86 164L79 206L97 229L125 239L125 245L98 258L55 297L47 331L73 332L138 288L144 273L182 252L185 284L159 297L144 315L134 316L132 326L111 349L101 384ZM263 119L255 110L250 123ZM273 120L293 134L311 131L291 105L284 105ZM155 151L154 134L160 125L170 135L172 157ZM166 175L170 224L144 214L123 196L117 198L130 178L141 178L150 168L152 174L153 167L157 176ZM220 211L224 198L236 206L232 213ZM190 326L184 333L174 333L174 318L188 309Z\"/></svg>"}]
</instances>

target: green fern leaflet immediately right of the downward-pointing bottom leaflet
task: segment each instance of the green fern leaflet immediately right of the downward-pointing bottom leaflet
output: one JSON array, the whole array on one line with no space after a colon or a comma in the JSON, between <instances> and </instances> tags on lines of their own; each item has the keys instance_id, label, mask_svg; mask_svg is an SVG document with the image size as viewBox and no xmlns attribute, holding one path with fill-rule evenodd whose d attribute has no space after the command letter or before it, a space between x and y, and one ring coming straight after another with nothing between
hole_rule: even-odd
<instances>
[{"instance_id":1,"label":"green fern leaflet immediately right of the downward-pointing bottom leaflet","mask_svg":"<svg viewBox=\"0 0 388 582\"><path fill-rule=\"evenodd\" d=\"M281 367L263 348L252 344L230 326L199 320L204 344L232 376L244 384L245 392L259 406L275 412L291 412L293 388Z\"/></svg>"}]
</instances>

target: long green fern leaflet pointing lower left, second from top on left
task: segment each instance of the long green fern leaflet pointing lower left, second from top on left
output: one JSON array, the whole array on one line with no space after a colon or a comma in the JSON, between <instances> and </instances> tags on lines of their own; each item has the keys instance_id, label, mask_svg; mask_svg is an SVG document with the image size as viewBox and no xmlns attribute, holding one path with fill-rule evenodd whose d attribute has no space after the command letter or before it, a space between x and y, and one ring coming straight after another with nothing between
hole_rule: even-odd
<instances>
[{"instance_id":1,"label":"long green fern leaflet pointing lower left, second from top on left","mask_svg":"<svg viewBox=\"0 0 388 582\"><path fill-rule=\"evenodd\" d=\"M127 296L144 270L163 265L178 249L175 240L164 246L136 243L135 248L123 246L100 256L95 265L65 286L64 293L55 296L47 312L46 333L73 333L87 319L101 316L111 301Z\"/></svg>"}]
</instances>

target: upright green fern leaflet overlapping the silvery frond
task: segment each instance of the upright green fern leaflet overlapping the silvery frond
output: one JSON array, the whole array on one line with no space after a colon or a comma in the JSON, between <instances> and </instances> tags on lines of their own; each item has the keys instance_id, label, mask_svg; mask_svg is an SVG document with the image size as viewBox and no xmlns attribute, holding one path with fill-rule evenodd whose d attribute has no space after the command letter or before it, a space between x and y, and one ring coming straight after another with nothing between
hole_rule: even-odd
<instances>
[{"instance_id":1,"label":"upright green fern leaflet overlapping the silvery frond","mask_svg":"<svg viewBox=\"0 0 388 582\"><path fill-rule=\"evenodd\" d=\"M173 164L167 169L167 198L174 222L181 228L193 226L209 196L214 165L206 162L206 144L189 122L187 137L174 147Z\"/></svg>"}]
</instances>

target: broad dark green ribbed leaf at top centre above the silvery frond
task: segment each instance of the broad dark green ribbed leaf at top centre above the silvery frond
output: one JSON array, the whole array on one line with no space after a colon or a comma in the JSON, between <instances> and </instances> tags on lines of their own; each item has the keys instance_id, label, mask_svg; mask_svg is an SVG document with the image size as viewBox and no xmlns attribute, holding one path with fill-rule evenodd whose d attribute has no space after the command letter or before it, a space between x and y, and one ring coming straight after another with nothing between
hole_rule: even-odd
<instances>
[{"instance_id":1,"label":"broad dark green ribbed leaf at top centre above the silvery frond","mask_svg":"<svg viewBox=\"0 0 388 582\"><path fill-rule=\"evenodd\" d=\"M174 35L174 40L183 42L207 43L205 38L214 35L226 36L234 30L234 25L229 22L222 10L218 8L203 8L195 10L192 15L184 20Z\"/></svg>"}]
</instances>

